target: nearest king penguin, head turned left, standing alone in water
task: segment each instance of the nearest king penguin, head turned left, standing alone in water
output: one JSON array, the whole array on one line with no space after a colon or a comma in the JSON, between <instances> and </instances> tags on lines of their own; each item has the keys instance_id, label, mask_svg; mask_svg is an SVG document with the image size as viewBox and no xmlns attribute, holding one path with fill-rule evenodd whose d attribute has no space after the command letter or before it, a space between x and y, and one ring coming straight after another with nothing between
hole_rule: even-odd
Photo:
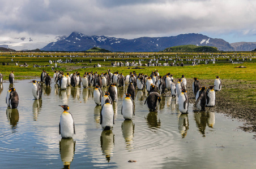
<instances>
[{"instance_id":1,"label":"nearest king penguin, head turned left, standing alone in water","mask_svg":"<svg viewBox=\"0 0 256 169\"><path fill-rule=\"evenodd\" d=\"M75 122L72 114L67 112L69 110L68 105L59 105L63 108L61 114L61 120L59 121L59 134L62 138L72 138L75 134Z\"/></svg>"}]
</instances>

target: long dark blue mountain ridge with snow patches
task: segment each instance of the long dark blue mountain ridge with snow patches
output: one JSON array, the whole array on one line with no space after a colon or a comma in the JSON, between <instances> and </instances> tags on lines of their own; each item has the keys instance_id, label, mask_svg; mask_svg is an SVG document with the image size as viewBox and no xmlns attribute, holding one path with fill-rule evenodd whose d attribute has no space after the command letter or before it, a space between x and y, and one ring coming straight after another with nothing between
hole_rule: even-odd
<instances>
[{"instance_id":1,"label":"long dark blue mountain ridge with snow patches","mask_svg":"<svg viewBox=\"0 0 256 169\"><path fill-rule=\"evenodd\" d=\"M155 52L167 47L180 45L214 46L220 51L233 51L234 48L223 39L210 38L203 34L180 34L171 37L140 37L124 39L106 36L87 36L72 32L69 37L51 42L43 51L86 51L92 47L100 47L117 52Z\"/></svg>"}]
</instances>

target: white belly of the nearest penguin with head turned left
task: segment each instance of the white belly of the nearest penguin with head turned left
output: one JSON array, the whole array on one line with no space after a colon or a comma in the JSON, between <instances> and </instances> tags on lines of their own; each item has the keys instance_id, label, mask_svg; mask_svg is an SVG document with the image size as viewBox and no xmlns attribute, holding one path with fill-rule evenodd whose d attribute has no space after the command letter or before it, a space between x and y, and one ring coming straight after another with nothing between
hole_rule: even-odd
<instances>
[{"instance_id":1,"label":"white belly of the nearest penguin with head turned left","mask_svg":"<svg viewBox=\"0 0 256 169\"><path fill-rule=\"evenodd\" d=\"M61 137L71 138L74 134L74 121L70 113L62 113L61 121L59 122L61 127Z\"/></svg>"}]
</instances>

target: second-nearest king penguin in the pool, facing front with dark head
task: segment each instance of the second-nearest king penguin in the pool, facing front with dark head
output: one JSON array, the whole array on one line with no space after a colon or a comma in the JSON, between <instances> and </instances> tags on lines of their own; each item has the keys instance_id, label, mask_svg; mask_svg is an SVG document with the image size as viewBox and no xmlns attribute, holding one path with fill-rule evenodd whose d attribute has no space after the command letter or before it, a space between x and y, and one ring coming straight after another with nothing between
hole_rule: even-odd
<instances>
[{"instance_id":1,"label":"second-nearest king penguin in the pool, facing front with dark head","mask_svg":"<svg viewBox=\"0 0 256 169\"><path fill-rule=\"evenodd\" d=\"M114 125L114 110L110 100L106 99L100 112L100 124L103 130L110 130Z\"/></svg>"}]
</instances>

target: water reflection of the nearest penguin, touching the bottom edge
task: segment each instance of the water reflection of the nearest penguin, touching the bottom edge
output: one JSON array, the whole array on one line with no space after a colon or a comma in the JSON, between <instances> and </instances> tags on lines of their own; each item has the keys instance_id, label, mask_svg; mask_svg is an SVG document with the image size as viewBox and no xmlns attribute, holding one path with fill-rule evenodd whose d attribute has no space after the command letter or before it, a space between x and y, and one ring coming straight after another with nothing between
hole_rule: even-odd
<instances>
[{"instance_id":1,"label":"water reflection of the nearest penguin, touching the bottom edge","mask_svg":"<svg viewBox=\"0 0 256 169\"><path fill-rule=\"evenodd\" d=\"M75 153L75 141L70 139L61 139L59 141L59 153L61 154L61 161L64 168L69 168L74 158Z\"/></svg>"}]
</instances>

